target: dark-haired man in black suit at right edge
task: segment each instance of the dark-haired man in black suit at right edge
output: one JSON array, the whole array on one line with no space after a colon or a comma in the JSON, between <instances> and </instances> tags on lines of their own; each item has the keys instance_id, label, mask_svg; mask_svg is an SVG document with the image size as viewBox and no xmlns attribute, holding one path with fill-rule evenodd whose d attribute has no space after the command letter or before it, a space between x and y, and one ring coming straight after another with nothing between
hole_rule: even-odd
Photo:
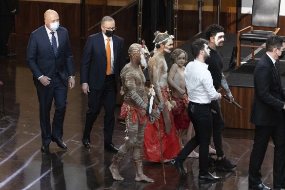
<instances>
[{"instance_id":1,"label":"dark-haired man in black suit at right edge","mask_svg":"<svg viewBox=\"0 0 285 190\"><path fill-rule=\"evenodd\" d=\"M261 165L270 137L274 143L273 185L285 188L285 89L281 85L279 65L276 60L284 56L285 42L279 36L266 41L266 54L254 69L254 99L250 121L255 124L255 134L249 161L248 187L251 190L271 190L261 181Z\"/></svg>"}]
</instances>

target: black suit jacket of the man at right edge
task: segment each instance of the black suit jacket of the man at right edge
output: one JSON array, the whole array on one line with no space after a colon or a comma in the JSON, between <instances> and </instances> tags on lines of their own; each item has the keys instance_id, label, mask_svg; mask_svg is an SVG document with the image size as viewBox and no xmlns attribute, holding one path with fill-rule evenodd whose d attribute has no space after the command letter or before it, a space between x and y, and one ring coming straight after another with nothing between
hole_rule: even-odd
<instances>
[{"instance_id":1,"label":"black suit jacket of the man at right edge","mask_svg":"<svg viewBox=\"0 0 285 190\"><path fill-rule=\"evenodd\" d=\"M281 85L279 72L267 54L254 69L254 99L250 121L255 125L276 126L283 119L285 89Z\"/></svg>"}]
</instances>

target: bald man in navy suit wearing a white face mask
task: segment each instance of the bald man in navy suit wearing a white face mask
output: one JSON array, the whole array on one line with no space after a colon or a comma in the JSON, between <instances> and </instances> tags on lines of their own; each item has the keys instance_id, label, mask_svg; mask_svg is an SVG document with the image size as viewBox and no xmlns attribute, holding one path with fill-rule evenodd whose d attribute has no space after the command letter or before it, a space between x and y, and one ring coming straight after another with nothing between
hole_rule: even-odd
<instances>
[{"instance_id":1,"label":"bald man in navy suit wearing a white face mask","mask_svg":"<svg viewBox=\"0 0 285 190\"><path fill-rule=\"evenodd\" d=\"M49 150L51 141L55 141L60 148L67 148L61 139L67 104L67 85L70 88L75 86L73 54L68 32L59 27L59 21L56 11L47 10L44 13L45 24L32 32L27 47L27 62L33 73L40 103L43 152ZM50 109L53 99L55 113L51 129Z\"/></svg>"}]
</instances>

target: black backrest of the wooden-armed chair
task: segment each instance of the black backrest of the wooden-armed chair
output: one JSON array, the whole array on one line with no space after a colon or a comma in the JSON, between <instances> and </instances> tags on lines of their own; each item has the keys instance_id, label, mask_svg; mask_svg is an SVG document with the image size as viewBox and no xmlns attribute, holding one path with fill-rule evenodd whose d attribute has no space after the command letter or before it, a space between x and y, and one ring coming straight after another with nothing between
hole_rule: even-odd
<instances>
[{"instance_id":1,"label":"black backrest of the wooden-armed chair","mask_svg":"<svg viewBox=\"0 0 285 190\"><path fill-rule=\"evenodd\" d=\"M280 0L253 0L251 26L278 28Z\"/></svg>"}]
</instances>

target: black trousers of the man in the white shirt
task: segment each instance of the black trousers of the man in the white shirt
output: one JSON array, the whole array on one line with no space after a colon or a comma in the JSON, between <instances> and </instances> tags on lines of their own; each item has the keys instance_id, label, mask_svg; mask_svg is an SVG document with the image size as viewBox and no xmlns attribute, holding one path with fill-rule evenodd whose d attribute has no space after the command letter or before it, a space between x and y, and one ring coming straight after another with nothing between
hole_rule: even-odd
<instances>
[{"instance_id":1,"label":"black trousers of the man in the white shirt","mask_svg":"<svg viewBox=\"0 0 285 190\"><path fill-rule=\"evenodd\" d=\"M198 105L190 102L188 114L195 129L195 136L179 152L177 161L183 163L187 156L200 145L199 175L205 175L208 172L209 145L213 126L211 109L209 105Z\"/></svg>"}]
</instances>

